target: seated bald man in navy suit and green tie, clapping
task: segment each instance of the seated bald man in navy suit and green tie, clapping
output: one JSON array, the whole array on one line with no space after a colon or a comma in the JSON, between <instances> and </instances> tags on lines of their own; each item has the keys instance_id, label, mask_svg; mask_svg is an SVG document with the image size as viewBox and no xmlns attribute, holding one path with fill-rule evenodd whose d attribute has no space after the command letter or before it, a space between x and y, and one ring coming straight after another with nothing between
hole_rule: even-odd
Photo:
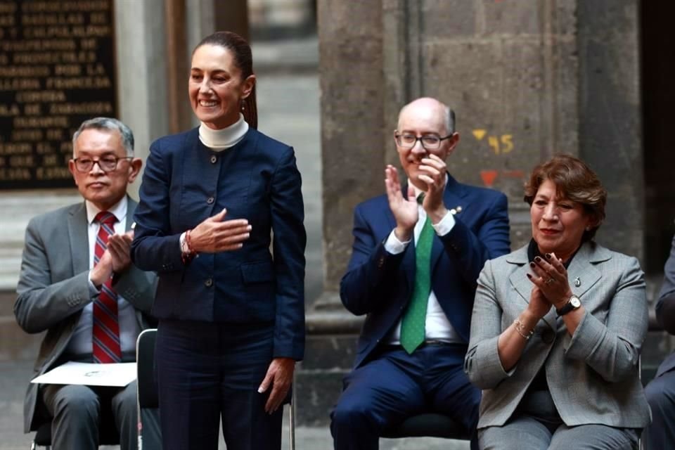
<instances>
[{"instance_id":1,"label":"seated bald man in navy suit and green tie, clapping","mask_svg":"<svg viewBox=\"0 0 675 450\"><path fill-rule=\"evenodd\" d=\"M404 106L394 131L409 184L385 169L386 195L356 206L340 297L367 314L354 370L331 413L335 449L377 449L380 433L423 412L473 435L480 390L463 371L478 274L509 252L506 196L446 170L459 134L433 98Z\"/></svg>"}]
</instances>

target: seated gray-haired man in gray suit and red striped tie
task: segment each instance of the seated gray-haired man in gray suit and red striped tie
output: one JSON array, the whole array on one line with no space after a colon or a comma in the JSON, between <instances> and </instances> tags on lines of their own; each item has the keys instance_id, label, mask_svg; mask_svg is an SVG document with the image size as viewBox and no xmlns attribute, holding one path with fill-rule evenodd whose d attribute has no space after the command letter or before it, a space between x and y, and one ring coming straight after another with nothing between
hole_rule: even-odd
<instances>
[{"instance_id":1,"label":"seated gray-haired man in gray suit and red striped tie","mask_svg":"<svg viewBox=\"0 0 675 450\"><path fill-rule=\"evenodd\" d=\"M142 165L131 130L108 117L87 120L72 149L68 167L84 202L34 217L25 234L14 314L27 333L46 331L34 376L67 361L135 361L136 338L149 326L155 297L155 275L129 257L136 202L127 185ZM104 409L112 411L109 423L101 420ZM120 435L122 450L137 447L136 382L30 384L24 413L25 432L51 420L57 450L98 449L103 428ZM158 422L143 425L148 439L158 433Z\"/></svg>"}]
</instances>

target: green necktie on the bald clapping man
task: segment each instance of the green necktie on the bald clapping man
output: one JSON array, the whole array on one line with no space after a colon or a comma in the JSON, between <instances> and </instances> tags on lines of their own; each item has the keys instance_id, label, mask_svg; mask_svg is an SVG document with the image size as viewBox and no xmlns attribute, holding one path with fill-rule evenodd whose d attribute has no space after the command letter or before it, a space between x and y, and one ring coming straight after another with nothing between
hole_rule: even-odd
<instances>
[{"instance_id":1,"label":"green necktie on the bald clapping man","mask_svg":"<svg viewBox=\"0 0 675 450\"><path fill-rule=\"evenodd\" d=\"M431 245L434 229L427 217L415 247L415 288L408 309L401 321L401 346L411 354L424 342L427 303L431 292Z\"/></svg>"}]
</instances>

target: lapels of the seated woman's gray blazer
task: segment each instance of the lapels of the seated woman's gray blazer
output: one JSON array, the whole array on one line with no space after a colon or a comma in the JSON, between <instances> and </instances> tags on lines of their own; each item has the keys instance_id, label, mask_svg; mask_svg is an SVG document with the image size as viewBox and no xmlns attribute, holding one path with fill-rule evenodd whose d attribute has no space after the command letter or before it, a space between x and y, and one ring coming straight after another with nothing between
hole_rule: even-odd
<instances>
[{"instance_id":1,"label":"lapels of the seated woman's gray blazer","mask_svg":"<svg viewBox=\"0 0 675 450\"><path fill-rule=\"evenodd\" d=\"M572 259L570 266L567 268L567 281L570 282L572 293L581 298L582 303L584 302L582 298L584 293L598 283L602 277L602 273L598 270L596 264L607 261L611 257L612 253L609 250L594 242L582 244L577 255L574 255L574 259ZM508 279L513 288L518 291L523 302L529 303L532 282L527 279L526 275L529 272L527 245L506 255L506 262L518 266L513 269ZM577 278L580 281L579 286L574 283L574 280ZM551 311L548 311L548 314L544 316L544 321L555 330L555 323L557 321L555 309L551 308Z\"/></svg>"}]
</instances>

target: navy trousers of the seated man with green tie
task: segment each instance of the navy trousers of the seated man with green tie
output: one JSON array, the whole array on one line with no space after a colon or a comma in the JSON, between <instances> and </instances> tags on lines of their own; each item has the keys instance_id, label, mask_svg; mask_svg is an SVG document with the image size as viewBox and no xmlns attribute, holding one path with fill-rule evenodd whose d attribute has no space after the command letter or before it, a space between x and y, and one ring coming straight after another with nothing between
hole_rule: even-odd
<instances>
[{"instance_id":1,"label":"navy trousers of the seated man with green tie","mask_svg":"<svg viewBox=\"0 0 675 450\"><path fill-rule=\"evenodd\" d=\"M385 348L356 368L330 414L335 449L378 449L385 428L430 411L451 416L473 434L480 390L463 371L465 352L464 345L427 345L413 354Z\"/></svg>"}]
</instances>

